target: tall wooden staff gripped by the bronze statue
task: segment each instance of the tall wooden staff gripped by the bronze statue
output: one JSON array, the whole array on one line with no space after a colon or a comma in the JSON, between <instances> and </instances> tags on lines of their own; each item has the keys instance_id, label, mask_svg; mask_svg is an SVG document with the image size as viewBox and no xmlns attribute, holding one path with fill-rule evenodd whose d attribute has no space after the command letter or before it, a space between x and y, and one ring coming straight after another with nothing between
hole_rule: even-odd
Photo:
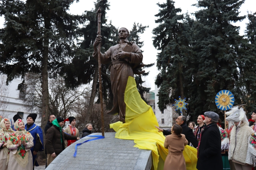
<instances>
[{"instance_id":1,"label":"tall wooden staff gripped by the bronze statue","mask_svg":"<svg viewBox=\"0 0 256 170\"><path fill-rule=\"evenodd\" d=\"M100 7L97 11L96 17L98 15L98 32L97 35L100 36L100 18L101 18ZM100 62L100 43L98 45L98 65L99 65L99 84L100 84L100 113L101 113L101 133L104 136L104 118L103 118L103 97L102 97L102 82L101 82L101 62Z\"/></svg>"}]
</instances>

